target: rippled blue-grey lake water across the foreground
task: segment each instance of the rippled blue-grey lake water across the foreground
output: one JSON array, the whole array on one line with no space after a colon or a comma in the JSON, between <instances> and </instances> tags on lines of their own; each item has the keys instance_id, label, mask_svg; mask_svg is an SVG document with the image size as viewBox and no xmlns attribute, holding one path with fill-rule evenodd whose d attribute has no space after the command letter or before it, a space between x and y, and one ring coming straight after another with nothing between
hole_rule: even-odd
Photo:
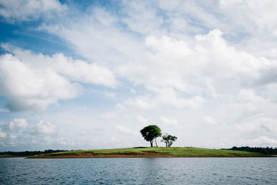
<instances>
[{"instance_id":1,"label":"rippled blue-grey lake water across the foreground","mask_svg":"<svg viewBox=\"0 0 277 185\"><path fill-rule=\"evenodd\" d=\"M0 158L0 184L277 184L277 158Z\"/></svg>"}]
</instances>

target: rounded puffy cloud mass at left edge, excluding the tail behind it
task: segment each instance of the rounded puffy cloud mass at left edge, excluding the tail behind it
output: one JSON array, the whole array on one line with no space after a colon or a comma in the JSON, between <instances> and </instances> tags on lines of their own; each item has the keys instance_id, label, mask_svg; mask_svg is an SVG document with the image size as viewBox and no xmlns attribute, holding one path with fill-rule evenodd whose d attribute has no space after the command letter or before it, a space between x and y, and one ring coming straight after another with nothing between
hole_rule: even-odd
<instances>
[{"instance_id":1,"label":"rounded puffy cloud mass at left edge, excluding the tail behind it","mask_svg":"<svg viewBox=\"0 0 277 185\"><path fill-rule=\"evenodd\" d=\"M0 94L11 110L46 109L58 99L74 98L80 87L51 69L36 69L6 54L0 57Z\"/></svg>"}]
</instances>

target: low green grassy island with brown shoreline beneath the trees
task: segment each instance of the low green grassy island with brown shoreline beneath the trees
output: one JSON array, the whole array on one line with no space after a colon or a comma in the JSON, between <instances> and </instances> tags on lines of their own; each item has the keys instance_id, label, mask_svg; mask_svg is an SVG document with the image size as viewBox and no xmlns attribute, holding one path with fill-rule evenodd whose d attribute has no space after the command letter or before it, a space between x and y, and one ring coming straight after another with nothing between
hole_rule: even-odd
<instances>
[{"instance_id":1,"label":"low green grassy island with brown shoreline beneath the trees","mask_svg":"<svg viewBox=\"0 0 277 185\"><path fill-rule=\"evenodd\" d=\"M102 157L270 157L256 152L217 150L192 147L116 148L75 150L35 155L29 158L102 158Z\"/></svg>"}]
</instances>

